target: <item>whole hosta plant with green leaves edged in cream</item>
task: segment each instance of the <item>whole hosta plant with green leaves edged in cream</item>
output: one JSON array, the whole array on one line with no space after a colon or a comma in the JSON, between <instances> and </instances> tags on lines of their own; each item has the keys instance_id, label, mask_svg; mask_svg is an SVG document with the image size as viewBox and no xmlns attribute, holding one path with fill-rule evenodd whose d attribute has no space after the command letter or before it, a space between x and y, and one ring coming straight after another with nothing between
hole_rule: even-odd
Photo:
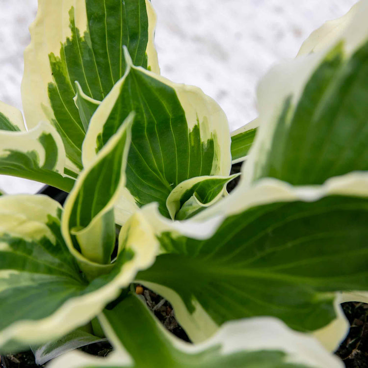
<instances>
[{"instance_id":1,"label":"whole hosta plant with green leaves edged in cream","mask_svg":"<svg viewBox=\"0 0 368 368\"><path fill-rule=\"evenodd\" d=\"M29 130L0 106L0 173L70 194L0 197L0 352L42 364L108 339L107 359L51 367L343 367L340 303L368 301L367 16L362 0L316 30L231 135L212 99L158 74L148 0L40 0Z\"/></svg>"}]
</instances>

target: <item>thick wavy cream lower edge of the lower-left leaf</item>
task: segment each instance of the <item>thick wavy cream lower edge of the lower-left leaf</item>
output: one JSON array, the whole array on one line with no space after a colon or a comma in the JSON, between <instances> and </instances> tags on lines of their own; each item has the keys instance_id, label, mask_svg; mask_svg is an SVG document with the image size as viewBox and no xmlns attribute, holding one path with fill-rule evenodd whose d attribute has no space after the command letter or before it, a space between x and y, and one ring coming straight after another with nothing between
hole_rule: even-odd
<instances>
[{"instance_id":1,"label":"thick wavy cream lower edge of the lower-left leaf","mask_svg":"<svg viewBox=\"0 0 368 368\"><path fill-rule=\"evenodd\" d=\"M111 282L96 291L69 299L46 318L13 323L0 331L0 346L9 341L42 344L85 325L114 300L122 288L129 286L139 270L150 267L158 253L158 241L153 235L153 229L140 213L135 213L126 226L121 236L125 239L125 246L133 250L134 257L122 266L120 273Z\"/></svg>"}]
</instances>

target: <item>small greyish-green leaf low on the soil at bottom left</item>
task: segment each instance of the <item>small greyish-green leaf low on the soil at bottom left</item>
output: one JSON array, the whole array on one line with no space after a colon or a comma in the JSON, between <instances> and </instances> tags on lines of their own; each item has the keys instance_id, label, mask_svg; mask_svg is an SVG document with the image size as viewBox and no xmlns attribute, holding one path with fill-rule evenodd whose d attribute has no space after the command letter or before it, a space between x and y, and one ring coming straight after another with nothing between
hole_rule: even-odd
<instances>
[{"instance_id":1,"label":"small greyish-green leaf low on the soil at bottom left","mask_svg":"<svg viewBox=\"0 0 368 368\"><path fill-rule=\"evenodd\" d=\"M43 365L46 362L58 357L61 354L65 354L68 351L78 349L79 347L90 345L95 342L103 342L106 339L102 339L87 332L81 328L78 328L69 334L63 336L53 342L47 342L37 348L32 348L34 353L36 364Z\"/></svg>"}]
</instances>

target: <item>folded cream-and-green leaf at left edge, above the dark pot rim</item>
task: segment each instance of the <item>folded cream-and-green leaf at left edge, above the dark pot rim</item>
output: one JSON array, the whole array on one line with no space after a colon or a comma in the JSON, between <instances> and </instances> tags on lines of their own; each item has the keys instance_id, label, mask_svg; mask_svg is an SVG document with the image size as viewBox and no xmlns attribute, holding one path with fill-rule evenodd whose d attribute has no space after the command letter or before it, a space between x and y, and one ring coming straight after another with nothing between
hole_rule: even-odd
<instances>
[{"instance_id":1,"label":"folded cream-and-green leaf at left edge, above the dark pot rim","mask_svg":"<svg viewBox=\"0 0 368 368\"><path fill-rule=\"evenodd\" d=\"M40 122L26 131L22 113L0 103L0 174L69 191L74 180L64 175L64 164L65 149L52 126Z\"/></svg>"}]
</instances>

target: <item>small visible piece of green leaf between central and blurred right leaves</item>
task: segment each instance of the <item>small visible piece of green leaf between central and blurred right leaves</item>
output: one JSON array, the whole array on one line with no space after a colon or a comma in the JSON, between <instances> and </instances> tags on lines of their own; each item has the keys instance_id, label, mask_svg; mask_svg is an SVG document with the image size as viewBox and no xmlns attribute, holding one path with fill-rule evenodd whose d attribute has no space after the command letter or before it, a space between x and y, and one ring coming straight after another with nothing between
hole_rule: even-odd
<instances>
[{"instance_id":1,"label":"small visible piece of green leaf between central and blurred right leaves","mask_svg":"<svg viewBox=\"0 0 368 368\"><path fill-rule=\"evenodd\" d=\"M233 164L246 159L256 137L258 127L258 120L254 120L231 133L231 156Z\"/></svg>"}]
</instances>

